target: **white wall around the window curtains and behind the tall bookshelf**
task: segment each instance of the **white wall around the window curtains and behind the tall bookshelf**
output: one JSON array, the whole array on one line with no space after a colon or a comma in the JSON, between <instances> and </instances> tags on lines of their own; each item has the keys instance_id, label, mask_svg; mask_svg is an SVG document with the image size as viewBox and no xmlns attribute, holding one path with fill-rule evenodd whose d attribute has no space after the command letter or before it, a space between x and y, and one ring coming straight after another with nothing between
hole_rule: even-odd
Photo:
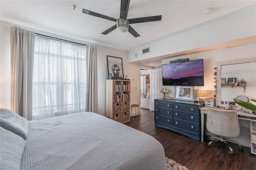
<instances>
[{"instance_id":1,"label":"white wall around the window curtains and behind the tall bookshelf","mask_svg":"<svg viewBox=\"0 0 256 170\"><path fill-rule=\"evenodd\" d=\"M68 36L63 36L60 34L46 32L44 30L39 30L36 28L29 28L26 26L6 22L0 20L0 108L10 108L10 27L12 26L20 26L20 28L24 28L26 30L31 30L38 34L43 34L46 36L52 36L68 41L83 43L83 44L92 44L85 42L83 40L77 40L70 38ZM97 57L98 57L98 113L100 115L105 116L106 110L106 79L108 78L108 68L107 68L107 55L113 57L122 58L123 62L123 71L124 76L127 75L127 79L133 78L132 75L136 74L136 69L138 66L135 66L133 63L127 62L126 52L114 49L102 45L97 45ZM132 69L132 71L130 70ZM140 71L140 69L138 69ZM140 73L138 73L140 74ZM135 79L134 79L135 80ZM135 103L139 102L140 95L140 87L139 83L131 83L131 101ZM135 89L134 85L136 85L137 89ZM135 95L134 95L135 94ZM138 94L138 96L137 96ZM137 99L138 98L138 99Z\"/></svg>"}]
</instances>

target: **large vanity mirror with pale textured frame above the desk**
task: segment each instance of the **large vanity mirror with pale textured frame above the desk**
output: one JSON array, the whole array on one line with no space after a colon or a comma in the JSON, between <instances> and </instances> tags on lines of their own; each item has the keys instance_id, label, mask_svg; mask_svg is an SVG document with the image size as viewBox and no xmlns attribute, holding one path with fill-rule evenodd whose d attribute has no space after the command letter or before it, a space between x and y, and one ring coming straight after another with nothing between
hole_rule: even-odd
<instances>
[{"instance_id":1,"label":"large vanity mirror with pale textured frame above the desk","mask_svg":"<svg viewBox=\"0 0 256 170\"><path fill-rule=\"evenodd\" d=\"M249 99L256 97L256 57L218 61L216 67L216 105L223 105L221 101L233 101L237 96L244 95L242 87L221 85L221 78L227 80L236 77L236 81L245 79L248 81L246 96Z\"/></svg>"}]
</instances>

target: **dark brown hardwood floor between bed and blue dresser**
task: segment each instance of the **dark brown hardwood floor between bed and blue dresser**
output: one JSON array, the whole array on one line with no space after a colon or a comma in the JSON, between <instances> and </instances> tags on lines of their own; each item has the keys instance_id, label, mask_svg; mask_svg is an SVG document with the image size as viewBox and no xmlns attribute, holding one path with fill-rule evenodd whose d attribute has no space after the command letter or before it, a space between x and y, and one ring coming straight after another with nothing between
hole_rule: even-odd
<instances>
[{"instance_id":1,"label":"dark brown hardwood floor between bed and blue dresser","mask_svg":"<svg viewBox=\"0 0 256 170\"><path fill-rule=\"evenodd\" d=\"M256 155L250 155L250 148L241 151L235 144L230 144L234 155L228 154L228 147L222 142L200 142L154 125L154 112L140 110L140 116L131 117L125 123L156 138L164 147L165 155L191 168L192 170L256 170Z\"/></svg>"}]
</instances>

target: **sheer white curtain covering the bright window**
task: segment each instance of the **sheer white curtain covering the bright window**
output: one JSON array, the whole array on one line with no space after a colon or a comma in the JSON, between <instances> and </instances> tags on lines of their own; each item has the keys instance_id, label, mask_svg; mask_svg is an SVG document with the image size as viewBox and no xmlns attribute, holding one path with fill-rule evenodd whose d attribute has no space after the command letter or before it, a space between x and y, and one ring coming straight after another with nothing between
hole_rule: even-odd
<instances>
[{"instance_id":1,"label":"sheer white curtain covering the bright window","mask_svg":"<svg viewBox=\"0 0 256 170\"><path fill-rule=\"evenodd\" d=\"M35 36L33 120L86 111L86 45Z\"/></svg>"}]
</instances>

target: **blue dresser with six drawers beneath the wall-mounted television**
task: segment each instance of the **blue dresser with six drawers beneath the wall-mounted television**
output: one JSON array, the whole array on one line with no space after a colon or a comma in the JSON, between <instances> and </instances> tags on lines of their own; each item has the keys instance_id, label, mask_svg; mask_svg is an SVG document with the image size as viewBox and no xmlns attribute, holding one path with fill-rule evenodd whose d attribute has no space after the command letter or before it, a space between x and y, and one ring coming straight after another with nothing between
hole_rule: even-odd
<instances>
[{"instance_id":1,"label":"blue dresser with six drawers beneath the wall-mounted television","mask_svg":"<svg viewBox=\"0 0 256 170\"><path fill-rule=\"evenodd\" d=\"M204 107L204 103L154 99L155 126L184 134L195 140L200 140L200 107Z\"/></svg>"}]
</instances>

